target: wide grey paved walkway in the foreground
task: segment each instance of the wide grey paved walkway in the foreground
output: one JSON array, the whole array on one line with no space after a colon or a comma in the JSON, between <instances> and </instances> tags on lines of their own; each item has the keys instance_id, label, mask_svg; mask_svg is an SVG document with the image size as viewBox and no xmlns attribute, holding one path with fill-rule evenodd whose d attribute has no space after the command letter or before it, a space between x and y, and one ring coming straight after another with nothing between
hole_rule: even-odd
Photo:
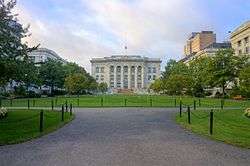
<instances>
[{"instance_id":1,"label":"wide grey paved walkway in the foreground","mask_svg":"<svg viewBox=\"0 0 250 166\"><path fill-rule=\"evenodd\" d=\"M250 165L250 150L207 140L163 108L79 109L76 119L39 139L0 147L0 165Z\"/></svg>"}]
</instances>

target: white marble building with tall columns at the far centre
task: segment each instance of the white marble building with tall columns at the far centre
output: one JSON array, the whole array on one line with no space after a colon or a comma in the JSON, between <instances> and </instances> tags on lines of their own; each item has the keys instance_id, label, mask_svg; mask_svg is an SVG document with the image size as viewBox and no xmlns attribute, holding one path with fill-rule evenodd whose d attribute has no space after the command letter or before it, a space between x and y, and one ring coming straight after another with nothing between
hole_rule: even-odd
<instances>
[{"instance_id":1,"label":"white marble building with tall columns at the far centre","mask_svg":"<svg viewBox=\"0 0 250 166\"><path fill-rule=\"evenodd\" d=\"M161 60L141 56L116 55L93 58L91 74L98 83L106 82L112 91L142 91L161 74Z\"/></svg>"}]
</instances>

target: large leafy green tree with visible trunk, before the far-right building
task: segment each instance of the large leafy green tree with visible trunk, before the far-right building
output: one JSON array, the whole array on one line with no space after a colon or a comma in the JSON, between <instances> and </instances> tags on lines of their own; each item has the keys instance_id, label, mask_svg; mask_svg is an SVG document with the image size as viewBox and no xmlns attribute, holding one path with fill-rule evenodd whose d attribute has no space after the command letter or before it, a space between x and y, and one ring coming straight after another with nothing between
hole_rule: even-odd
<instances>
[{"instance_id":1,"label":"large leafy green tree with visible trunk, before the far-right building","mask_svg":"<svg viewBox=\"0 0 250 166\"><path fill-rule=\"evenodd\" d=\"M208 71L211 73L209 83L211 86L222 88L223 98L228 83L235 82L244 61L234 56L232 49L219 50L210 61Z\"/></svg>"}]
</instances>

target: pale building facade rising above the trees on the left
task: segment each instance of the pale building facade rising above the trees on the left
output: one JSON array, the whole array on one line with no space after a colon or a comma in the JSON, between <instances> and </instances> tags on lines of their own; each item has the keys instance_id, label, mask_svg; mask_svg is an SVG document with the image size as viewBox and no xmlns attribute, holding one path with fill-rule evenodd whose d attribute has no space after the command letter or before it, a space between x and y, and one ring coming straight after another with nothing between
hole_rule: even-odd
<instances>
[{"instance_id":1,"label":"pale building facade rising above the trees on the left","mask_svg":"<svg viewBox=\"0 0 250 166\"><path fill-rule=\"evenodd\" d=\"M58 60L62 63L67 63L66 60L61 58L57 53L47 48L38 48L37 50L30 52L29 58L38 66L49 59Z\"/></svg>"}]
</instances>

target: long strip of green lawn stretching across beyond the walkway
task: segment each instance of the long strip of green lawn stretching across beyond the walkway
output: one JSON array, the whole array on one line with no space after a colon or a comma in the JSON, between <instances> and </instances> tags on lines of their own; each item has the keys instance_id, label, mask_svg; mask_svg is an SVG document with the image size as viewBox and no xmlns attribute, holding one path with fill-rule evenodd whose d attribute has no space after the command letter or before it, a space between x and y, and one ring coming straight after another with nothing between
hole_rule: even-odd
<instances>
[{"instance_id":1,"label":"long strip of green lawn stretching across beyond the walkway","mask_svg":"<svg viewBox=\"0 0 250 166\"><path fill-rule=\"evenodd\" d=\"M165 95L102 95L102 96L76 96L36 98L36 99L12 99L2 100L0 106L4 107L60 107L66 102L74 107L178 107L180 100L184 106L214 108L221 106L221 99L192 98ZM236 101L225 100L224 107L245 108L250 106L250 100Z\"/></svg>"}]
</instances>

